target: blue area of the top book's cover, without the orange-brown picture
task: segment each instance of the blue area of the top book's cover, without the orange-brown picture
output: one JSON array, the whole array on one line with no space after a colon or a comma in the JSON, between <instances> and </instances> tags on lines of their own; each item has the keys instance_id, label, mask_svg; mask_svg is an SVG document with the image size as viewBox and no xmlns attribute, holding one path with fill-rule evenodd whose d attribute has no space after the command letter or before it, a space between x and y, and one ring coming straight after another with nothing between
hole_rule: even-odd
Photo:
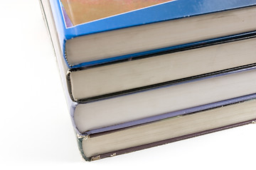
<instances>
[{"instance_id":1,"label":"blue area of the top book's cover, without the orange-brown picture","mask_svg":"<svg viewBox=\"0 0 256 170\"><path fill-rule=\"evenodd\" d=\"M65 54L65 41L78 36L255 5L256 0L174 0L73 26L65 13L61 1L50 0L50 6L53 11L53 17L55 19L55 24L58 30L60 46L62 47L63 54ZM179 45L176 48L181 46L182 45ZM75 64L73 66L69 65L66 59L65 62L69 68L87 67L105 62L124 60L130 57L136 57L144 54L148 55L164 50L170 49L163 48L159 50L151 50L148 52L139 52L133 55L124 55L104 60L84 62Z\"/></svg>"}]
</instances>

